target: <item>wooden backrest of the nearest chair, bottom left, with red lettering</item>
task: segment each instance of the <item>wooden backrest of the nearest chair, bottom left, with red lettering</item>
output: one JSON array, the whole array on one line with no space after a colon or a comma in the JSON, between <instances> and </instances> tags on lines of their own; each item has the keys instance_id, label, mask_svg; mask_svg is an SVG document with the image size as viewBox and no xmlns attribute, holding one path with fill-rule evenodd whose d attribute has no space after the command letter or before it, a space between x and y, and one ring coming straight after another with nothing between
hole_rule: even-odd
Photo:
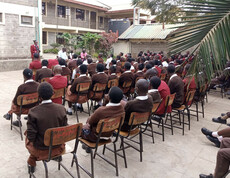
<instances>
[{"instance_id":1,"label":"wooden backrest of the nearest chair, bottom left, with red lettering","mask_svg":"<svg viewBox=\"0 0 230 178\"><path fill-rule=\"evenodd\" d=\"M44 135L44 144L50 146L52 140L52 145L55 146L76 139L78 130L82 130L82 123L47 129Z\"/></svg>"}]
</instances>

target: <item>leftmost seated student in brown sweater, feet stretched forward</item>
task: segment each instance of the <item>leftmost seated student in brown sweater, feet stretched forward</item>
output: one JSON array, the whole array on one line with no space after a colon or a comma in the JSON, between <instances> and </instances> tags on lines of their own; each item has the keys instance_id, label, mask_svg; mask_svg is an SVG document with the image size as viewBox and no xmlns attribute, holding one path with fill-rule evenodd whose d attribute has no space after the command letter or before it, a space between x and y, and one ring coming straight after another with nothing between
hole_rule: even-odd
<instances>
[{"instance_id":1,"label":"leftmost seated student in brown sweater, feet stretched forward","mask_svg":"<svg viewBox=\"0 0 230 178\"><path fill-rule=\"evenodd\" d=\"M11 115L13 113L19 114L20 107L17 105L17 97L19 95L36 93L37 92L37 88L38 88L39 83L35 82L32 79L32 77L33 77L32 70L25 69L23 71L23 77L24 77L24 84L22 84L22 85L20 85L18 87L17 92L16 92L16 94L14 96L14 99L12 101L10 111L8 111L8 113L3 116L6 120L10 120L10 117L11 117ZM36 104L23 106L22 113L26 113L30 108L34 107L35 105ZM19 121L18 120L13 121L13 125L19 126Z\"/></svg>"}]
</instances>

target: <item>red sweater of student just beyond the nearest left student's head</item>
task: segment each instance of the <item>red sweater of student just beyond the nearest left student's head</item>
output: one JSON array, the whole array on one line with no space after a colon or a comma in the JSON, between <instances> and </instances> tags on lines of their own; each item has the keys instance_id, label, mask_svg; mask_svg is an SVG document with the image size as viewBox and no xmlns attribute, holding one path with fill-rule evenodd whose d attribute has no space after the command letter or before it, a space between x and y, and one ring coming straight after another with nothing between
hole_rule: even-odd
<instances>
[{"instance_id":1,"label":"red sweater of student just beyond the nearest left student's head","mask_svg":"<svg viewBox=\"0 0 230 178\"><path fill-rule=\"evenodd\" d=\"M54 89L61 89L67 86L67 77L61 75L55 75L54 77L48 80ZM62 97L52 99L54 103L62 104Z\"/></svg>"}]
</instances>

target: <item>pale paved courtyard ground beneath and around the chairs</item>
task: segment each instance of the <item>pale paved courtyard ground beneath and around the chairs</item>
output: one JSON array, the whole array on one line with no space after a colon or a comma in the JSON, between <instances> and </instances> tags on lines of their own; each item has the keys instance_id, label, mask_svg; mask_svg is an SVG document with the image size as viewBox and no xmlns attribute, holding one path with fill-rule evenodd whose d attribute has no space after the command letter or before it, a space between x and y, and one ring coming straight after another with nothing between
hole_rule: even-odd
<instances>
[{"instance_id":1,"label":"pale paved courtyard ground beneath and around the chairs","mask_svg":"<svg viewBox=\"0 0 230 178\"><path fill-rule=\"evenodd\" d=\"M23 82L22 71L1 72L0 78L0 115L3 116L10 108L17 87ZM201 172L213 172L218 149L201 134L200 129L203 126L211 130L225 128L225 125L213 123L211 118L221 112L229 111L229 106L228 99L222 99L219 94L210 94L208 103L205 104L205 118L200 115L199 122L192 118L191 130L188 131L186 128L184 136L181 130L175 130L173 136L169 130L166 130L165 142L162 142L160 136L155 135L155 144L152 144L150 137L144 136L143 162L139 162L139 154L135 150L127 150L128 168L124 168L123 160L119 158L119 177L196 178ZM86 114L80 114L80 121L84 123L87 117ZM75 116L68 117L68 120L69 124L76 123ZM22 123L25 131L26 121L23 120ZM70 145L73 143L71 142ZM28 177L26 165L28 151L19 134L15 130L10 130L10 123L4 118L0 119L0 153L0 177ZM90 157L82 150L81 145L77 155L79 162L90 168ZM107 152L106 156L113 160L111 153ZM71 156L64 156L63 162L70 167ZM50 177L68 176L63 169L57 170L57 163L54 161L51 161L48 167ZM75 168L70 170L76 174ZM95 177L116 177L115 169L98 157L95 159L95 175ZM44 167L41 162L37 163L36 176L44 177ZM81 177L88 176L81 172Z\"/></svg>"}]
</instances>

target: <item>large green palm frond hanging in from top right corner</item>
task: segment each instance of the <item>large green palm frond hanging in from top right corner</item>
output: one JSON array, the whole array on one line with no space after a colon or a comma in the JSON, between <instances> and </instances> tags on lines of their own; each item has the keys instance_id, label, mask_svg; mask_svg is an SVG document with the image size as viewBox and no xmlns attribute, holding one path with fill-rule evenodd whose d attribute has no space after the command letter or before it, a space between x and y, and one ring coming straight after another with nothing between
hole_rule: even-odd
<instances>
[{"instance_id":1,"label":"large green palm frond hanging in from top right corner","mask_svg":"<svg viewBox=\"0 0 230 178\"><path fill-rule=\"evenodd\" d=\"M184 9L194 16L169 39L175 54L194 49L196 55L190 73L203 72L210 81L230 59L230 0L187 0Z\"/></svg>"}]
</instances>

